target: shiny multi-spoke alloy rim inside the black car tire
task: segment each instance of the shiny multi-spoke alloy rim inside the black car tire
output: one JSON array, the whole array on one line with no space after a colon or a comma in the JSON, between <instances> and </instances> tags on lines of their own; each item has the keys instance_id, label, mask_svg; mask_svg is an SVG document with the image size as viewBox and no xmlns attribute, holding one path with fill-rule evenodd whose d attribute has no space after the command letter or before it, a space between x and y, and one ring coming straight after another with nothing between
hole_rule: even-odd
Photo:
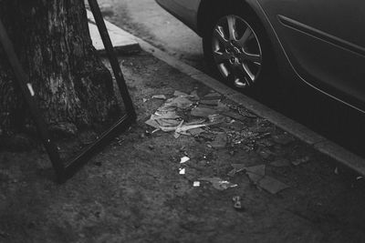
<instances>
[{"instance_id":1,"label":"shiny multi-spoke alloy rim inside the black car tire","mask_svg":"<svg viewBox=\"0 0 365 243\"><path fill-rule=\"evenodd\" d=\"M262 49L253 28L237 15L226 15L214 26L214 62L224 79L237 87L251 86L262 69Z\"/></svg>"}]
</instances>

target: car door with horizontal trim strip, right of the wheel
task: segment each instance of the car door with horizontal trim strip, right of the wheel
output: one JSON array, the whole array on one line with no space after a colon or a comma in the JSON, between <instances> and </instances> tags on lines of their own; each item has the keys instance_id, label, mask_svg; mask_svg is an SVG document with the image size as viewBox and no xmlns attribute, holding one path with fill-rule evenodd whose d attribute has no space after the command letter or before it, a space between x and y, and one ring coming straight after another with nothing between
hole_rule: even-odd
<instances>
[{"instance_id":1,"label":"car door with horizontal trim strip, right of the wheel","mask_svg":"<svg viewBox=\"0 0 365 243\"><path fill-rule=\"evenodd\" d=\"M364 1L258 1L302 78L365 102Z\"/></svg>"}]
</instances>

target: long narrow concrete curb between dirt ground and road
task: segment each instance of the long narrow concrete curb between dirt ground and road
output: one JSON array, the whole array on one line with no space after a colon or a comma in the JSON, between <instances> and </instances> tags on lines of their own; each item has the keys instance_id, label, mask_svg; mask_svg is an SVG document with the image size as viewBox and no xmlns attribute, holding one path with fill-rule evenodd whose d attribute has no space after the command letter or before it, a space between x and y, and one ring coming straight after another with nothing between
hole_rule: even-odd
<instances>
[{"instance_id":1,"label":"long narrow concrete curb between dirt ground and road","mask_svg":"<svg viewBox=\"0 0 365 243\"><path fill-rule=\"evenodd\" d=\"M308 129L308 127L304 127L296 121L287 118L287 116L283 116L276 111L268 108L267 106L262 105L254 99L237 93L234 89L228 86L224 86L218 80L212 78L211 76L207 76L193 66L189 66L178 60L177 58L168 55L157 47L145 42L141 38L134 36L134 39L139 42L141 48L144 51L151 53L152 56L155 56L166 64L178 69L180 72L187 76L190 76L196 81L203 83L205 86L209 86L210 88L214 89L223 96L226 96L228 99L234 101L235 103L241 106L245 106L245 108L252 111L257 116L266 118L277 127L282 128L294 137L297 137L299 140L313 147L319 153L331 157L339 164L345 167L349 167L360 175L365 176L364 158L349 152L349 150L340 147L339 145L329 141L327 138L322 137L312 130Z\"/></svg>"}]
</instances>

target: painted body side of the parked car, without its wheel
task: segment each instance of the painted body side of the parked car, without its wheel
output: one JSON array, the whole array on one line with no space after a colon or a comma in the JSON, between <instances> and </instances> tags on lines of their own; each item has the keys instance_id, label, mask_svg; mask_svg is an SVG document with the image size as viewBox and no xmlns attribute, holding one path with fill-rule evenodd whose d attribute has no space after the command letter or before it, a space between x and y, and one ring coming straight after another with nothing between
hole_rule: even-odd
<instances>
[{"instance_id":1,"label":"painted body side of the parked car, without its wheel","mask_svg":"<svg viewBox=\"0 0 365 243\"><path fill-rule=\"evenodd\" d=\"M298 80L365 111L365 2L353 0L156 0L198 35L213 6L249 7L266 29L277 66Z\"/></svg>"}]
</instances>

